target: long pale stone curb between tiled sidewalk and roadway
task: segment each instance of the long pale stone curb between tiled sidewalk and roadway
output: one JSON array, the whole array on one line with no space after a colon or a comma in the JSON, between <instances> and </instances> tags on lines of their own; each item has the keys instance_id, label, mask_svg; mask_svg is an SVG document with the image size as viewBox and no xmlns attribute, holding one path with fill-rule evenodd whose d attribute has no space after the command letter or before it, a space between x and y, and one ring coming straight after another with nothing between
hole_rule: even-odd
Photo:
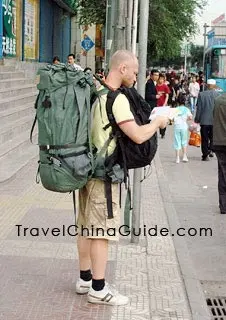
<instances>
[{"instance_id":1,"label":"long pale stone curb between tiled sidewalk and roadway","mask_svg":"<svg viewBox=\"0 0 226 320\"><path fill-rule=\"evenodd\" d=\"M164 174L162 163L157 153L154 159L158 184L163 199L163 205L168 219L169 227L176 230L181 227L177 211L174 207L169 182ZM211 320L211 315L206 304L204 292L197 278L186 240L183 237L173 237L181 274L188 297L193 320Z\"/></svg>"}]
</instances>

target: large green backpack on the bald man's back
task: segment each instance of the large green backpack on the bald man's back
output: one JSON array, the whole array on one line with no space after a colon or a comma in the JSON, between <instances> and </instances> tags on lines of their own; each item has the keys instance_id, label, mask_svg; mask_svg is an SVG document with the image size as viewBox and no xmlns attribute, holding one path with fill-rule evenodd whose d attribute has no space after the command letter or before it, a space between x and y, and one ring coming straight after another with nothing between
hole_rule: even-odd
<instances>
[{"instance_id":1,"label":"large green backpack on the bald man's back","mask_svg":"<svg viewBox=\"0 0 226 320\"><path fill-rule=\"evenodd\" d=\"M35 107L41 182L48 190L71 192L82 188L93 173L92 77L64 64L47 65L38 75ZM34 126L35 122L32 132Z\"/></svg>"}]
</instances>

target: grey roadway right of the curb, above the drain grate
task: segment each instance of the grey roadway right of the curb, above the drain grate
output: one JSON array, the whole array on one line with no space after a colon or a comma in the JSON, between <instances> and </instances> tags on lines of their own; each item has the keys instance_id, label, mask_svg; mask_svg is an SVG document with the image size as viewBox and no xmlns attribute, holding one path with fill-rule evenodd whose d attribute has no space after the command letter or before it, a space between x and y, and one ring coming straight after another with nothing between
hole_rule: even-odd
<instances>
[{"instance_id":1,"label":"grey roadway right of the curb, above the drain grate","mask_svg":"<svg viewBox=\"0 0 226 320\"><path fill-rule=\"evenodd\" d=\"M174 163L172 130L159 140L164 173L180 225L186 229L211 228L212 236L187 237L199 280L225 281L226 216L218 208L217 160L201 161L201 148L189 146L189 163Z\"/></svg>"}]
</instances>

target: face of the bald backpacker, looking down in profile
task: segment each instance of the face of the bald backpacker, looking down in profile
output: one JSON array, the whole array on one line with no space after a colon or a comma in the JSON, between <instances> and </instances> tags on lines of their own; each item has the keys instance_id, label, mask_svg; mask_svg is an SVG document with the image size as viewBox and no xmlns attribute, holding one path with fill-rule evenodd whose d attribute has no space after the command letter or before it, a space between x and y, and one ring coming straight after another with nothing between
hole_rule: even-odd
<instances>
[{"instance_id":1,"label":"face of the bald backpacker, looking down in profile","mask_svg":"<svg viewBox=\"0 0 226 320\"><path fill-rule=\"evenodd\" d=\"M138 60L131 59L127 63L122 64L120 67L120 71L122 74L122 85L131 88L134 83L137 81L138 74Z\"/></svg>"}]
</instances>

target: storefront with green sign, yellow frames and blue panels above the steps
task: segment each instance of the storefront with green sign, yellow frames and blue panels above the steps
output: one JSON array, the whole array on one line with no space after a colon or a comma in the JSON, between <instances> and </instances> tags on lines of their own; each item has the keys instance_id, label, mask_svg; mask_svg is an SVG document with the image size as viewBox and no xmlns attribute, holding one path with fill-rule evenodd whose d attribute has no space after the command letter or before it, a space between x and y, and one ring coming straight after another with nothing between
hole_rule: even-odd
<instances>
[{"instance_id":1,"label":"storefront with green sign, yellow frames and blue panels above the steps","mask_svg":"<svg viewBox=\"0 0 226 320\"><path fill-rule=\"evenodd\" d=\"M73 15L69 0L0 0L0 58L64 62Z\"/></svg>"}]
</instances>

